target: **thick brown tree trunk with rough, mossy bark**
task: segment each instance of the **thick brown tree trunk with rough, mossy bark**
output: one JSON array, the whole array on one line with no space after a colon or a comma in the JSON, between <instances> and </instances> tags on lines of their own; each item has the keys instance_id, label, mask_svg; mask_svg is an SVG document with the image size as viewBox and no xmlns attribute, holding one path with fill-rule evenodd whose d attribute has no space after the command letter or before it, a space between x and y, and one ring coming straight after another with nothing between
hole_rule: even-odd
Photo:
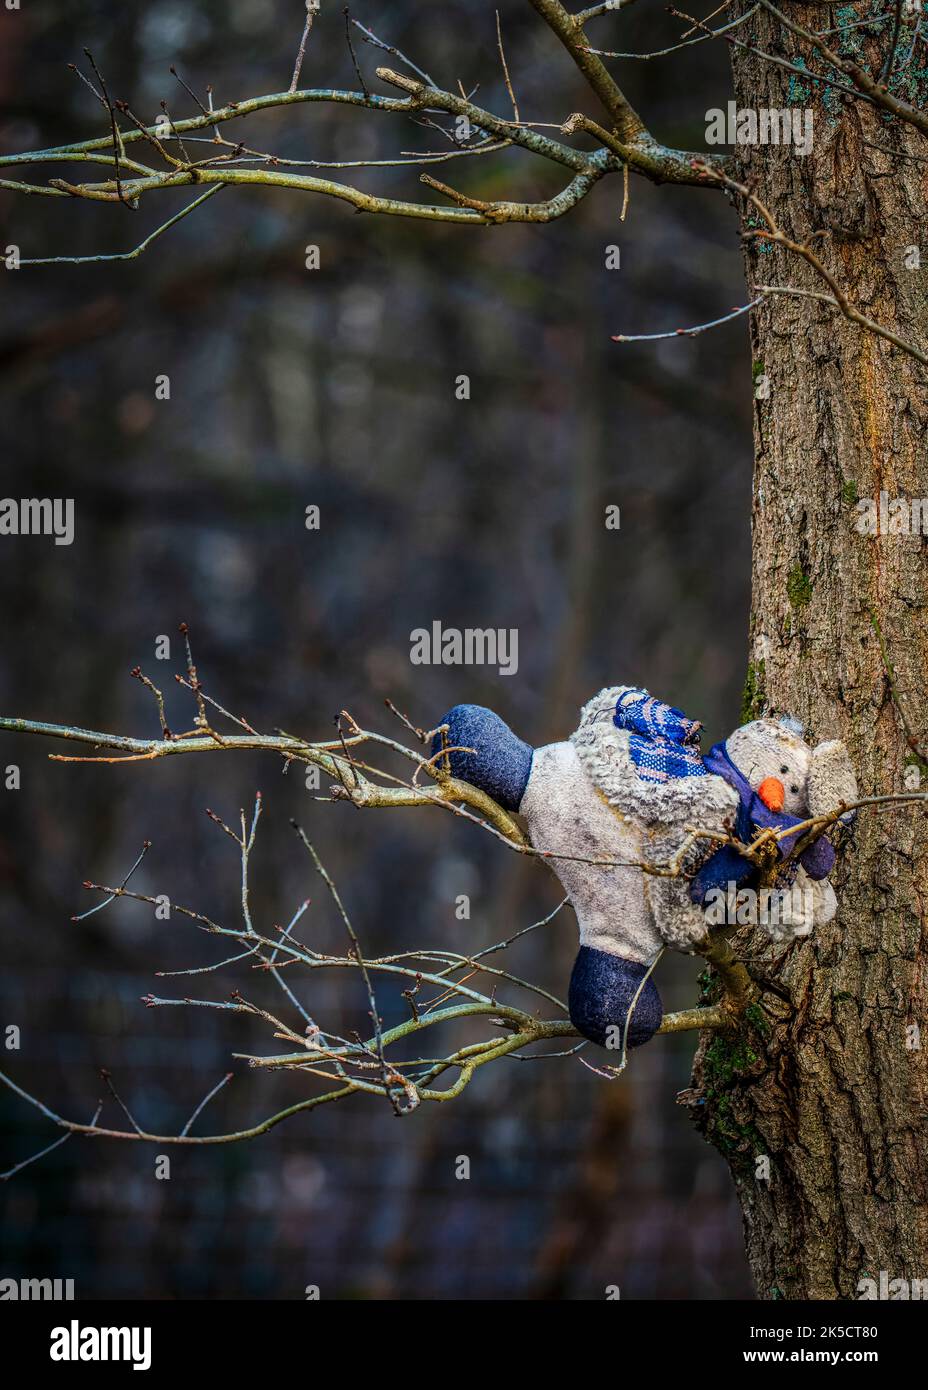
<instances>
[{"instance_id":1,"label":"thick brown tree trunk with rough, mossy bark","mask_svg":"<svg viewBox=\"0 0 928 1390\"><path fill-rule=\"evenodd\" d=\"M838 22L832 7L785 8L806 28ZM807 49L772 18L753 32L788 61ZM854 43L878 71L892 22L874 32ZM903 33L896 63L914 72L924 60L904 67L911 28ZM911 252L924 227L925 142L745 50L732 63L739 107L814 111L806 157L742 146L742 177L793 239L825 234L813 246L852 304L925 350L928 264L917 268ZM914 81L892 90L924 106ZM745 217L745 229L759 225ZM770 243L746 242L746 270L749 286L827 292L800 257ZM752 321L754 379L767 378L770 395L761 386L754 409L745 717L790 713L813 741L845 739L861 795L918 777L928 790L903 721L924 749L928 542L917 516L915 534L856 530L860 499L928 498L928 373L811 299L767 297ZM699 1049L695 1113L729 1161L761 1298L859 1298L859 1282L881 1272L928 1276L927 810L860 813L834 876L838 919L785 952L760 934L739 941L764 958L752 970L778 994L739 1036Z\"/></svg>"}]
</instances>

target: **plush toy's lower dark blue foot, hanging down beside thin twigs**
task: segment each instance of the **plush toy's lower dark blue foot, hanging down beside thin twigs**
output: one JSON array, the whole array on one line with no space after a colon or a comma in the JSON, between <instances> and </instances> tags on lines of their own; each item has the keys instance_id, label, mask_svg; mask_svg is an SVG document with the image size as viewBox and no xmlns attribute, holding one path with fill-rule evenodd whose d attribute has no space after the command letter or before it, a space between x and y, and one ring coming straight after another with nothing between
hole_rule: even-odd
<instances>
[{"instance_id":1,"label":"plush toy's lower dark blue foot, hanging down beside thin twigs","mask_svg":"<svg viewBox=\"0 0 928 1390\"><path fill-rule=\"evenodd\" d=\"M636 960L624 960L622 956L597 951L595 947L581 947L567 995L571 1023L578 1033L590 1042L621 1052L622 1030L628 1019L628 1047L647 1042L664 1016L664 1006L653 979L645 984L631 1019L628 1017L646 973L647 966Z\"/></svg>"}]
</instances>

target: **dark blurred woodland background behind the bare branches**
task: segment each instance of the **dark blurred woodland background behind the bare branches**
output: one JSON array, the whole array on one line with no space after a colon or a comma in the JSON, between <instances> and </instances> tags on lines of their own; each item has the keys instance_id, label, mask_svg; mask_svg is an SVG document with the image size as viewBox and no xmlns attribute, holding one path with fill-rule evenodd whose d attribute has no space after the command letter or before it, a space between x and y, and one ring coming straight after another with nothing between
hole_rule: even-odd
<instances>
[{"instance_id":1,"label":"dark blurred woodland background behind the bare branches","mask_svg":"<svg viewBox=\"0 0 928 1390\"><path fill-rule=\"evenodd\" d=\"M340 11L324 3L301 85L356 86ZM522 114L599 115L531 8L502 0L500 11ZM479 83L478 101L507 110L489 0L360 0L353 14L445 85ZM211 82L218 103L286 89L301 18L299 0L3 11L0 147L104 133L67 70L85 44L139 114L151 120L165 97L176 117L193 106L171 63L200 93ZM595 38L642 51L678 32L642 3L597 21ZM375 89L383 57L358 42ZM725 63L707 44L622 72L663 139L702 147L706 110L729 96ZM235 135L313 158L440 143L404 118L325 106L250 117ZM511 153L435 172L489 197L546 196L557 179ZM417 175L357 181L428 199ZM125 250L189 196L157 195L131 214L0 195L3 245ZM154 705L128 674L140 663L171 685L171 723L189 727L188 696L154 660L157 635L188 621L207 689L264 730L329 737L347 708L400 734L385 696L424 724L467 699L542 744L565 735L602 685L640 682L702 717L709 739L728 733L749 602L745 322L660 343L610 334L743 303L735 217L718 196L638 179L624 225L620 207L610 181L552 225L471 229L226 190L135 263L4 275L3 492L74 496L76 541L0 543L0 710L154 734ZM610 242L621 271L604 268ZM154 399L163 373L169 402ZM460 373L470 403L454 399ZM322 509L320 532L304 528L308 503ZM621 507L618 532L604 528L608 503ZM410 666L411 628L435 617L517 627L518 674ZM176 638L175 657L171 671ZM310 894L303 934L324 947L340 947L342 929L293 815L368 954L477 949L557 902L543 869L478 830L426 810L314 803L272 758L81 767L47 762L54 751L67 749L8 735L0 751L22 769L22 790L0 794L0 1024L22 1029L4 1069L72 1118L90 1118L106 1066L149 1129L176 1131L232 1052L275 1045L236 1016L140 1004L153 988L196 986L278 1005L272 983L240 967L156 980L221 958L182 919L117 903L69 920L92 901L82 881L118 880L144 838L154 845L138 888L233 919L235 847L207 805L235 819L263 790L256 915L286 922ZM470 922L454 917L461 892ZM511 969L563 995L575 948L565 912L511 949ZM661 963L667 1008L695 1001L697 972L682 956ZM354 974L289 983L324 1023L364 1027ZM399 988L381 988L388 1020ZM85 1298L301 1298L310 1283L324 1298L581 1300L607 1284L625 1298L750 1297L727 1169L675 1105L693 1045L658 1038L611 1084L577 1058L504 1059L453 1104L401 1123L356 1098L247 1145L172 1150L169 1182L154 1180L149 1147L74 1138L0 1188L0 1275L74 1277ZM306 1079L233 1065L201 1133L307 1093ZM0 1168L54 1137L0 1091ZM454 1177L461 1154L470 1182Z\"/></svg>"}]
</instances>

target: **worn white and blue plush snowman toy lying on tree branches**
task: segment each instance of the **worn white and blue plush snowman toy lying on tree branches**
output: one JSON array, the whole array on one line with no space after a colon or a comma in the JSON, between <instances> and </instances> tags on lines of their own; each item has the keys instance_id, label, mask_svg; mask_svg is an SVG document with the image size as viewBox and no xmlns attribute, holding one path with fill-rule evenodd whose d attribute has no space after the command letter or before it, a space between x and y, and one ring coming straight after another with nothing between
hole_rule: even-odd
<instances>
[{"instance_id":1,"label":"worn white and blue plush snowman toy lying on tree branches","mask_svg":"<svg viewBox=\"0 0 928 1390\"><path fill-rule=\"evenodd\" d=\"M628 685L600 691L570 738L545 748L479 705L456 705L442 723L453 776L522 816L533 848L558 856L552 866L579 924L570 1016L599 1045L639 1047L653 1036L663 1006L649 970L661 948L692 952L709 931L707 899L757 884L757 869L734 847L693 840L689 828L749 842L763 827L786 830L857 796L840 742L810 748L793 720L760 719L703 756L699 723ZM440 746L436 735L433 753ZM800 834L779 841L781 860ZM767 927L774 940L834 917L834 860L821 837L781 865L777 887L797 890L799 908ZM678 863L682 873L658 876L642 863Z\"/></svg>"}]
</instances>

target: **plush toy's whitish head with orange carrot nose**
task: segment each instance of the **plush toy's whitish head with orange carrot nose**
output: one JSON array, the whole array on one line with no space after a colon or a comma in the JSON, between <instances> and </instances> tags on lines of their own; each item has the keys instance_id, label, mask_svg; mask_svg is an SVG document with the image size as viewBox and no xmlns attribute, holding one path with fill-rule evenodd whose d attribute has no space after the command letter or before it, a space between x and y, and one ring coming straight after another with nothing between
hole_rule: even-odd
<instances>
[{"instance_id":1,"label":"plush toy's whitish head with orange carrot nose","mask_svg":"<svg viewBox=\"0 0 928 1390\"><path fill-rule=\"evenodd\" d=\"M795 720L756 719L725 741L725 752L768 810L818 816L854 801L847 749L836 739L810 748Z\"/></svg>"}]
</instances>

